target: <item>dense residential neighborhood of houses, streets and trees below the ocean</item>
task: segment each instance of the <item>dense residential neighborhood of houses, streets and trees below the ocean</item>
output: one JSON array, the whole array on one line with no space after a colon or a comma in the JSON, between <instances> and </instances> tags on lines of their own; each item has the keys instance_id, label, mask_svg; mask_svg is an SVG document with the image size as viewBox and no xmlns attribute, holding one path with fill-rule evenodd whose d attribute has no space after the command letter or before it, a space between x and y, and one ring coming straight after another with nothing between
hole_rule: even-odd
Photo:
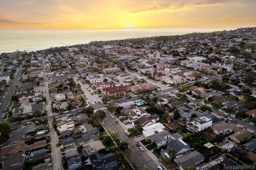
<instances>
[{"instance_id":1,"label":"dense residential neighborhood of houses, streets and trees below the ocean","mask_svg":"<svg viewBox=\"0 0 256 170\"><path fill-rule=\"evenodd\" d=\"M0 169L255 169L255 50L249 27L2 53Z\"/></svg>"}]
</instances>

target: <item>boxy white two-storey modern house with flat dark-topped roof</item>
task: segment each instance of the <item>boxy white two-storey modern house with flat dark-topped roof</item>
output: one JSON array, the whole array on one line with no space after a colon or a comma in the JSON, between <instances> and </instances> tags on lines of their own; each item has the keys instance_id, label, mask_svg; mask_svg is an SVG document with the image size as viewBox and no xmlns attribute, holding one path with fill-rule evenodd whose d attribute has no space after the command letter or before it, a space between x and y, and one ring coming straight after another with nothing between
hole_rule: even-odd
<instances>
[{"instance_id":1,"label":"boxy white two-storey modern house with flat dark-topped roof","mask_svg":"<svg viewBox=\"0 0 256 170\"><path fill-rule=\"evenodd\" d=\"M191 122L193 124L193 128L197 131L206 130L208 127L212 125L212 120L209 116L195 117Z\"/></svg>"}]
</instances>

